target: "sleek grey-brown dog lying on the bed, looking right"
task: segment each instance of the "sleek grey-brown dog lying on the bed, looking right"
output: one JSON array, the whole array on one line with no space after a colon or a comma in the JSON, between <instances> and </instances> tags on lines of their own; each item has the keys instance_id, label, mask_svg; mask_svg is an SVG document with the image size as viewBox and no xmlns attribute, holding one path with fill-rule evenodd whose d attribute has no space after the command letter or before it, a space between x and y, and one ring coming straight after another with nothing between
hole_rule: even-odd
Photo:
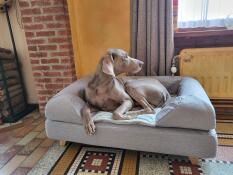
<instances>
[{"instance_id":1,"label":"sleek grey-brown dog lying on the bed, looking right","mask_svg":"<svg viewBox=\"0 0 233 175\"><path fill-rule=\"evenodd\" d=\"M136 103L144 111L153 113L154 107L164 104L170 97L167 89L156 79L124 81L117 77L122 73L136 74L142 69L143 64L121 49L109 49L100 59L93 78L85 88L87 103L81 109L87 134L92 135L96 130L91 117L92 112L111 111L113 119L129 120L136 116L135 113L127 113Z\"/></svg>"}]
</instances>

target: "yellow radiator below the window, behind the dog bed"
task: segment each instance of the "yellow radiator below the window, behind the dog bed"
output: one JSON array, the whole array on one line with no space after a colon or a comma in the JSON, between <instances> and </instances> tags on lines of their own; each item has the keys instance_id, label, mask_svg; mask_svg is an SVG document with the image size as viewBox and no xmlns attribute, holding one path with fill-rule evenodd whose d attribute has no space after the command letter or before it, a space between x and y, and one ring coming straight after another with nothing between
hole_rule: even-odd
<instances>
[{"instance_id":1,"label":"yellow radiator below the window, behind the dog bed","mask_svg":"<svg viewBox=\"0 0 233 175\"><path fill-rule=\"evenodd\" d=\"M233 99L233 47L184 49L179 58L180 75L197 79L211 99Z\"/></svg>"}]
</instances>

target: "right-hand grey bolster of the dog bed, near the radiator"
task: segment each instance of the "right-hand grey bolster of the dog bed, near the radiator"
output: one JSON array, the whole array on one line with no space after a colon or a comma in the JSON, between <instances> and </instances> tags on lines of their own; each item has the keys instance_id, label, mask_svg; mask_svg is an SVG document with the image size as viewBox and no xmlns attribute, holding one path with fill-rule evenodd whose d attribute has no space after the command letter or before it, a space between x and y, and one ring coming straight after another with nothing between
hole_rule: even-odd
<instances>
[{"instance_id":1,"label":"right-hand grey bolster of the dog bed, near the radiator","mask_svg":"<svg viewBox=\"0 0 233 175\"><path fill-rule=\"evenodd\" d=\"M157 126L200 130L215 128L215 110L198 81L182 78L177 95L158 113Z\"/></svg>"}]
</instances>

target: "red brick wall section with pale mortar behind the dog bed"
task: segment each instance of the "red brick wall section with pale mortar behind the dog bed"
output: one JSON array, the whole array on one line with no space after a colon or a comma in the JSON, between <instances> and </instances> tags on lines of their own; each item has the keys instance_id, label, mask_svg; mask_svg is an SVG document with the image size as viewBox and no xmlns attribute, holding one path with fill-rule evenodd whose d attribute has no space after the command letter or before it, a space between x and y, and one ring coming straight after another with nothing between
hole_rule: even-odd
<instances>
[{"instance_id":1,"label":"red brick wall section with pale mortar behind the dog bed","mask_svg":"<svg viewBox=\"0 0 233 175\"><path fill-rule=\"evenodd\" d=\"M66 0L19 0L29 57L44 114L46 102L76 79Z\"/></svg>"}]
</instances>

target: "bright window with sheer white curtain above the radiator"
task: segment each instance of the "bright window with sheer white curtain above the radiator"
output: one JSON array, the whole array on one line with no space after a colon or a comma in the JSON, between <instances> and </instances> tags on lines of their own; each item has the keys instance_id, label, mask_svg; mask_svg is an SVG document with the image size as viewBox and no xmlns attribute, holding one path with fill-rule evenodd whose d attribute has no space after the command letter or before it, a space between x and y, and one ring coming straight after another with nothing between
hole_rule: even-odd
<instances>
[{"instance_id":1,"label":"bright window with sheer white curtain above the radiator","mask_svg":"<svg viewBox=\"0 0 233 175\"><path fill-rule=\"evenodd\" d=\"M179 0L178 28L233 29L233 0Z\"/></svg>"}]
</instances>

